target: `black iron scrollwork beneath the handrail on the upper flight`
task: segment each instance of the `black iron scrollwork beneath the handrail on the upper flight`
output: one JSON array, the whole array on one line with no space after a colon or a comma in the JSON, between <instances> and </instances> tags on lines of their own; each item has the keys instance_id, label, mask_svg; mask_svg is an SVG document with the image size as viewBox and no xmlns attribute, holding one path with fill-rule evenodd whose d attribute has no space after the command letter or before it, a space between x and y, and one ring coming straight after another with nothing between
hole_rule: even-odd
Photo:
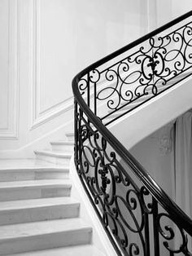
<instances>
[{"instance_id":1,"label":"black iron scrollwork beneath the handrail on the upper flight","mask_svg":"<svg viewBox=\"0 0 192 256\"><path fill-rule=\"evenodd\" d=\"M103 120L128 113L192 73L192 22L133 50L81 78L81 94Z\"/></svg>"}]
</instances>

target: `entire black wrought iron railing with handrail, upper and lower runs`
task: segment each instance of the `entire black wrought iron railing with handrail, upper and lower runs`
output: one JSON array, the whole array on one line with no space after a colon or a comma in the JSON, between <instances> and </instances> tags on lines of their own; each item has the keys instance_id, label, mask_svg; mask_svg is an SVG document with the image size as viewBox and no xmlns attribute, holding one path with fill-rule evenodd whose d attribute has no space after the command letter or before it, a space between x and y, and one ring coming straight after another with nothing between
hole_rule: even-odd
<instances>
[{"instance_id":1,"label":"entire black wrought iron railing with handrail, upper and lower runs","mask_svg":"<svg viewBox=\"0 0 192 256\"><path fill-rule=\"evenodd\" d=\"M118 255L192 255L191 219L106 127L190 76L191 15L124 46L72 81L76 170Z\"/></svg>"}]
</instances>

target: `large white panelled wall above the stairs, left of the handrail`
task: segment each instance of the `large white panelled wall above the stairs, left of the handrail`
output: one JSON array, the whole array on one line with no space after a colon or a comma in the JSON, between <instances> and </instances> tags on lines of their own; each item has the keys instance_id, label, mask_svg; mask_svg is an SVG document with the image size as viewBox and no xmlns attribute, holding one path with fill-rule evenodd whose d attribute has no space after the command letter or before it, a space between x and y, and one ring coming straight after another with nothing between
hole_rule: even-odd
<instances>
[{"instance_id":1,"label":"large white panelled wall above the stairs, left of the handrail","mask_svg":"<svg viewBox=\"0 0 192 256\"><path fill-rule=\"evenodd\" d=\"M0 157L71 130L72 77L143 33L142 0L0 0Z\"/></svg>"}]
</instances>

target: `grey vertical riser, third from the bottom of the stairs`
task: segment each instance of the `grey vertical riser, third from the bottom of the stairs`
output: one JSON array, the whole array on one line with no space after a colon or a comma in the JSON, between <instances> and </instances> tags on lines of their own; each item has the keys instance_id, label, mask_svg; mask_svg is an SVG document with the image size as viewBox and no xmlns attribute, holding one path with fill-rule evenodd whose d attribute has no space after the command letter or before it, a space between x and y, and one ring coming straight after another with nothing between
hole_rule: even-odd
<instances>
[{"instance_id":1,"label":"grey vertical riser, third from the bottom of the stairs","mask_svg":"<svg viewBox=\"0 0 192 256\"><path fill-rule=\"evenodd\" d=\"M15 201L35 198L48 198L58 196L70 196L71 188L58 187L34 187L34 188L9 188L0 189L0 201Z\"/></svg>"}]
</instances>

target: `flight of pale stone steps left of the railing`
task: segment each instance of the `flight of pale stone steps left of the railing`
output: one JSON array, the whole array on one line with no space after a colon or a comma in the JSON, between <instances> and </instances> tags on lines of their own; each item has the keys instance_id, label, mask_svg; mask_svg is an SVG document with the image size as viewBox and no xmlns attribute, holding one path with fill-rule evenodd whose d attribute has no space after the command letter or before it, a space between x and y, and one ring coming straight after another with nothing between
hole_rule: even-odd
<instances>
[{"instance_id":1,"label":"flight of pale stone steps left of the railing","mask_svg":"<svg viewBox=\"0 0 192 256\"><path fill-rule=\"evenodd\" d=\"M0 255L104 255L71 196L73 134L66 136L36 159L0 161Z\"/></svg>"}]
</instances>

